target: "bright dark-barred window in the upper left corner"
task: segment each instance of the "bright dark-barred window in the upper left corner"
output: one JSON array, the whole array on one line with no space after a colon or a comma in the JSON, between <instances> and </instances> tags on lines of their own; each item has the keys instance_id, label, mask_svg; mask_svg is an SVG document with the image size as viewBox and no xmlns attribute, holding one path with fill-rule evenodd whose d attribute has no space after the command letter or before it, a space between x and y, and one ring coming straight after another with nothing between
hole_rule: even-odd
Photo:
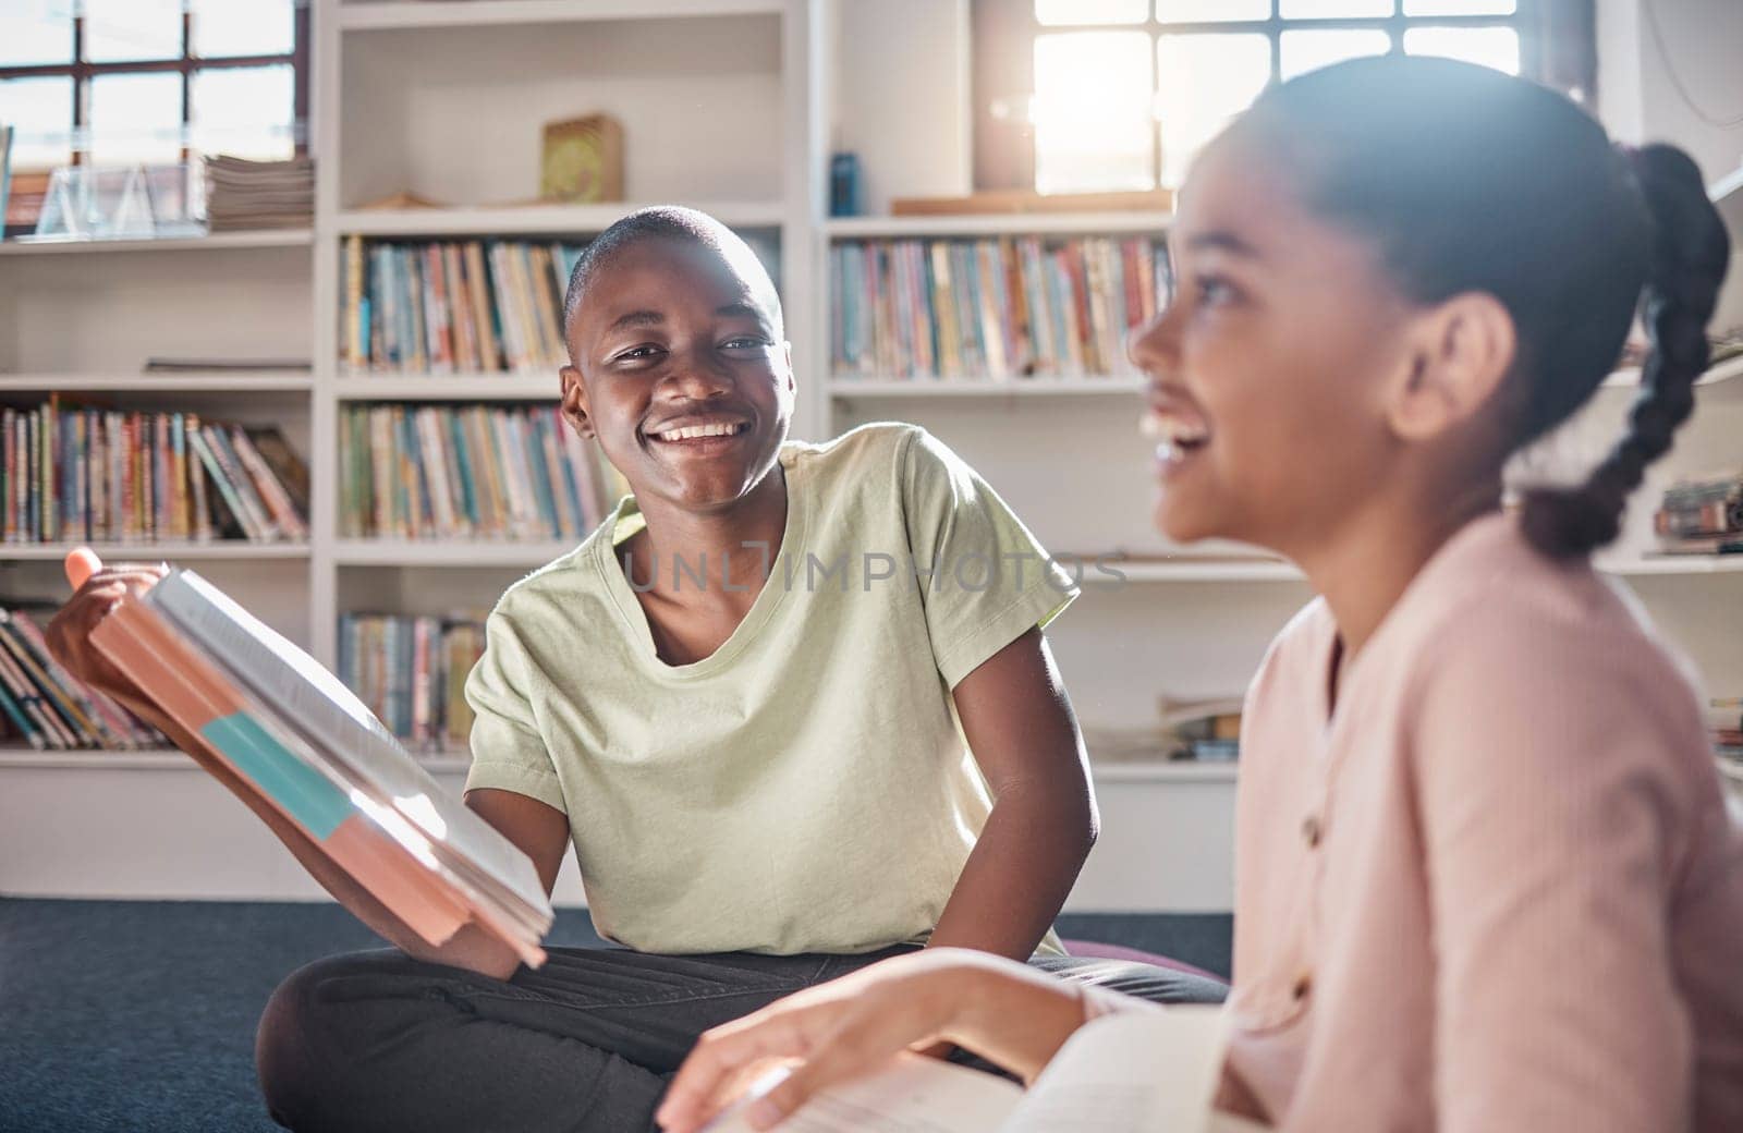
<instances>
[{"instance_id":1,"label":"bright dark-barred window in the upper left corner","mask_svg":"<svg viewBox=\"0 0 1743 1133\"><path fill-rule=\"evenodd\" d=\"M14 169L307 150L307 0L3 0Z\"/></svg>"}]
</instances>

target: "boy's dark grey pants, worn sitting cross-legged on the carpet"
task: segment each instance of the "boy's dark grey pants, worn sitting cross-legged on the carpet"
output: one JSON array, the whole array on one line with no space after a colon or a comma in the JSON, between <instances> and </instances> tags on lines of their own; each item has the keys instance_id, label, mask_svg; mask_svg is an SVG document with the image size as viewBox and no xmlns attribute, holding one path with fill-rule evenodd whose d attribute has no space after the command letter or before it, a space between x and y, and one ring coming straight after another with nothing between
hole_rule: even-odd
<instances>
[{"instance_id":1,"label":"boy's dark grey pants, worn sitting cross-legged on the carpet","mask_svg":"<svg viewBox=\"0 0 1743 1133\"><path fill-rule=\"evenodd\" d=\"M507 983L397 950L317 960L267 1004L256 1065L272 1117L300 1133L643 1133L695 1037L872 955L645 955L551 948ZM1156 1002L1218 1002L1211 980L1145 964L1035 967Z\"/></svg>"}]
</instances>

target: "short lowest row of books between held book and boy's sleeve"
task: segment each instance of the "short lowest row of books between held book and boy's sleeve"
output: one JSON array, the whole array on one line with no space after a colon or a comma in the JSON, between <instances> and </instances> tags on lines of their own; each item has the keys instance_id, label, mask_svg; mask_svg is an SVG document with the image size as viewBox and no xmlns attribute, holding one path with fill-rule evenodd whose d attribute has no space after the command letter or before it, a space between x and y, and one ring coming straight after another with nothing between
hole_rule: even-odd
<instances>
[{"instance_id":1,"label":"short lowest row of books between held book and boy's sleeve","mask_svg":"<svg viewBox=\"0 0 1743 1133\"><path fill-rule=\"evenodd\" d=\"M485 655L478 619L342 614L338 676L413 750L464 748L465 678Z\"/></svg>"}]
</instances>

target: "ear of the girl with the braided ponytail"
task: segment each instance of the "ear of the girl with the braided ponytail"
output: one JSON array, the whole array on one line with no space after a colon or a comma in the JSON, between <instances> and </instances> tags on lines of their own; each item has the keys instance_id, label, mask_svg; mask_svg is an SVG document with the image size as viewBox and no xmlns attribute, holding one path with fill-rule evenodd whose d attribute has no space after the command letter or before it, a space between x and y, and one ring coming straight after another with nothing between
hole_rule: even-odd
<instances>
[{"instance_id":1,"label":"ear of the girl with the braided ponytail","mask_svg":"<svg viewBox=\"0 0 1743 1133\"><path fill-rule=\"evenodd\" d=\"M1466 291L1415 315L1408 373L1387 406L1400 439L1424 441L1475 418L1513 370L1513 315L1485 291Z\"/></svg>"}]
</instances>

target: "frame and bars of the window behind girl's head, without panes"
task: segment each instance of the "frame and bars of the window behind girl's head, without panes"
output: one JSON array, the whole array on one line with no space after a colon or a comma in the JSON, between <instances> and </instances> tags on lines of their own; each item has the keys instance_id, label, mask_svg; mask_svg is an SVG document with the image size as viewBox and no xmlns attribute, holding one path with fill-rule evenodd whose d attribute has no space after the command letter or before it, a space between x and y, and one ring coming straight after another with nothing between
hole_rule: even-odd
<instances>
[{"instance_id":1,"label":"frame and bars of the window behind girl's head, without panes","mask_svg":"<svg viewBox=\"0 0 1743 1133\"><path fill-rule=\"evenodd\" d=\"M1267 19L1218 19L1164 23L1156 3L1147 3L1143 23L1042 24L1034 0L971 0L971 94L974 99L974 188L1035 188L1035 131L1025 115L1011 113L1013 94L1035 91L1035 37L1072 31L1142 31L1150 38L1150 89L1157 85L1156 45L1163 35L1264 35L1271 42L1271 82L1281 77L1285 31L1380 30L1391 38L1391 54L1403 52L1410 28L1513 28L1520 37L1520 75L1560 91L1579 92L1597 106L1597 14L1595 0L1516 0L1511 16L1405 16L1403 0L1393 0L1391 16L1340 16L1326 19L1283 17L1281 0L1271 0ZM1004 105L1004 113L995 108ZM1152 124L1150 171L1161 185L1161 124Z\"/></svg>"}]
</instances>

